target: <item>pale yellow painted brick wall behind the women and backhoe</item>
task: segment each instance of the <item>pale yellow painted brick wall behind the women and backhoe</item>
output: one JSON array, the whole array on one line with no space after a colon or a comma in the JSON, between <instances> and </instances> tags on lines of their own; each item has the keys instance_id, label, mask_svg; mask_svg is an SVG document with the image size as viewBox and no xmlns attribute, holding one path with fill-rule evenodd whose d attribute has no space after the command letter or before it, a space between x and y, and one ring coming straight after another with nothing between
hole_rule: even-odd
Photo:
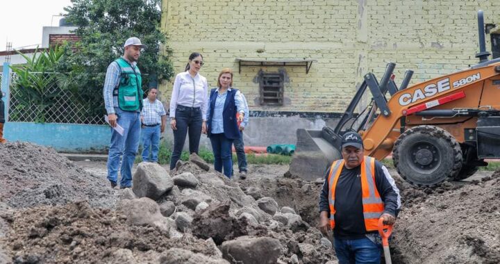
<instances>
[{"instance_id":1,"label":"pale yellow painted brick wall behind the women and backhoe","mask_svg":"<svg viewBox=\"0 0 500 264\"><path fill-rule=\"evenodd\" d=\"M380 79L389 61L397 63L397 83L414 70L413 84L475 64L477 10L485 10L485 23L500 24L499 8L496 0L163 0L162 28L176 72L192 51L203 54L201 74L210 85L220 69L233 68L251 110L342 113L363 75ZM305 67L260 66L239 74L235 58L317 62L309 74ZM258 104L260 69L285 70L284 106ZM171 89L160 86L164 101Z\"/></svg>"}]
</instances>

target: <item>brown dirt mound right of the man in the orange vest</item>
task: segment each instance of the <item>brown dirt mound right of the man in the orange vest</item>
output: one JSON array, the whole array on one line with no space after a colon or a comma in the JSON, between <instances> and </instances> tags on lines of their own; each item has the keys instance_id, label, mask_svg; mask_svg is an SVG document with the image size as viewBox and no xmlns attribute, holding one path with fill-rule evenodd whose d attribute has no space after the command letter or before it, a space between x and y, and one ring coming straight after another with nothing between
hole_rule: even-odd
<instances>
[{"instance_id":1,"label":"brown dirt mound right of the man in the orange vest","mask_svg":"<svg viewBox=\"0 0 500 264\"><path fill-rule=\"evenodd\" d=\"M405 189L393 263L500 263L500 172L481 181Z\"/></svg>"}]
</instances>

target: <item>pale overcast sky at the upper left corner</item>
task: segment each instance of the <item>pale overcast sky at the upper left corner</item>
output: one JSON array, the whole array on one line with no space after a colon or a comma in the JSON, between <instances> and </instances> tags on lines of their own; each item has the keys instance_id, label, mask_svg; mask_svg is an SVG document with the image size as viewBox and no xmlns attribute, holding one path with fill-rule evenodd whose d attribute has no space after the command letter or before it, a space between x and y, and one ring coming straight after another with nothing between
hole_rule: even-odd
<instances>
[{"instance_id":1,"label":"pale overcast sky at the upper left corner","mask_svg":"<svg viewBox=\"0 0 500 264\"><path fill-rule=\"evenodd\" d=\"M70 0L0 0L0 51L12 42L13 49L42 44L42 27L59 26ZM53 15L56 15L53 17ZM29 48L28 47L28 48Z\"/></svg>"}]
</instances>

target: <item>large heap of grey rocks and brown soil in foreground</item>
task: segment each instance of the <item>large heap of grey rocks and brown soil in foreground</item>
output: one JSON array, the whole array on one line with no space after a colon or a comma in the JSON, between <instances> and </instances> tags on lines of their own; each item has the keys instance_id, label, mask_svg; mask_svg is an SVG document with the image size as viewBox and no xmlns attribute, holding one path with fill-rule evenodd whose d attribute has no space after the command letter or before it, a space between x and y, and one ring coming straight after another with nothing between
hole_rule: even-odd
<instances>
[{"instance_id":1,"label":"large heap of grey rocks and brown soil in foreground","mask_svg":"<svg viewBox=\"0 0 500 264\"><path fill-rule=\"evenodd\" d=\"M322 235L293 208L258 201L201 159L174 172L140 163L116 210L88 201L8 209L13 263L326 263ZM172 174L172 175L171 175ZM277 219L277 220L276 220ZM257 250L258 249L258 250ZM0 257L2 255L0 254ZM1 259L1 258L0 258Z\"/></svg>"}]
</instances>

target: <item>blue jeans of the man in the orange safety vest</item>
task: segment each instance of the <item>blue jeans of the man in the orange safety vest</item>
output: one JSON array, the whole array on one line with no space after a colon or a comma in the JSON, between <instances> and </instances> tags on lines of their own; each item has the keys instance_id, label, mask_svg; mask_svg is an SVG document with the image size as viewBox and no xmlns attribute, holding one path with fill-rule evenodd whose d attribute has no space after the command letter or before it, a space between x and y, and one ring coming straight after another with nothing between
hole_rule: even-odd
<instances>
[{"instance_id":1,"label":"blue jeans of the man in the orange safety vest","mask_svg":"<svg viewBox=\"0 0 500 264\"><path fill-rule=\"evenodd\" d=\"M335 238L335 253L339 264L381 263L382 246L369 238L354 240Z\"/></svg>"}]
</instances>

